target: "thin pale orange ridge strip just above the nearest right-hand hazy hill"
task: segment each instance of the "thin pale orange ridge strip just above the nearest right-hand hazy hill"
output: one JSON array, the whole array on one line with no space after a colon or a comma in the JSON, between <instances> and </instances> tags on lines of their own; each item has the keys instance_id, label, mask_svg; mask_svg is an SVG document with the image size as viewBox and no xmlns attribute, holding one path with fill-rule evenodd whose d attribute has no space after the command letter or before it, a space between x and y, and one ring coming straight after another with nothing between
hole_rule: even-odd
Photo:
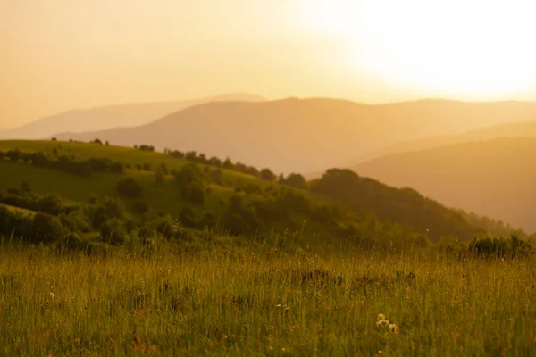
<instances>
[{"instance_id":1,"label":"thin pale orange ridge strip just above the nearest right-hand hazy hill","mask_svg":"<svg viewBox=\"0 0 536 357\"><path fill-rule=\"evenodd\" d=\"M353 164L371 161L389 154L420 151L432 147L461 144L476 140L491 140L499 137L536 137L536 120L494 125L468 130L463 134L426 137L420 140L389 145L380 150L364 154L359 162L354 162Z\"/></svg>"}]
</instances>

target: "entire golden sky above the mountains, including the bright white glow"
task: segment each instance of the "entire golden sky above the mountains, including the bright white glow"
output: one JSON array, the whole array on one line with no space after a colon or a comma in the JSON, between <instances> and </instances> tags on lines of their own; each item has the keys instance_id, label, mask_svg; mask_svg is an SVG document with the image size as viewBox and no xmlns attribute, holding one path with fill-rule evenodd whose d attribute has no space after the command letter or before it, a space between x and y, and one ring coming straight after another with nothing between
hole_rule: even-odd
<instances>
[{"instance_id":1,"label":"entire golden sky above the mountains, including the bright white glow","mask_svg":"<svg viewBox=\"0 0 536 357\"><path fill-rule=\"evenodd\" d=\"M533 100L534 6L0 0L0 128L75 108L237 92Z\"/></svg>"}]
</instances>

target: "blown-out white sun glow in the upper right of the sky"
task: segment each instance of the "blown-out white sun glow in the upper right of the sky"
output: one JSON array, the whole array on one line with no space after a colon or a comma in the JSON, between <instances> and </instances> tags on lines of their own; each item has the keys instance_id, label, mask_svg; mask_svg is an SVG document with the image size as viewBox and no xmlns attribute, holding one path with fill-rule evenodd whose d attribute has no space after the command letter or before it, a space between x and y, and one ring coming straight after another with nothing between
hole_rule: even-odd
<instances>
[{"instance_id":1,"label":"blown-out white sun glow in the upper right of the sky","mask_svg":"<svg viewBox=\"0 0 536 357\"><path fill-rule=\"evenodd\" d=\"M304 0L300 23L344 43L359 71L413 89L492 98L536 83L536 4Z\"/></svg>"}]
</instances>

